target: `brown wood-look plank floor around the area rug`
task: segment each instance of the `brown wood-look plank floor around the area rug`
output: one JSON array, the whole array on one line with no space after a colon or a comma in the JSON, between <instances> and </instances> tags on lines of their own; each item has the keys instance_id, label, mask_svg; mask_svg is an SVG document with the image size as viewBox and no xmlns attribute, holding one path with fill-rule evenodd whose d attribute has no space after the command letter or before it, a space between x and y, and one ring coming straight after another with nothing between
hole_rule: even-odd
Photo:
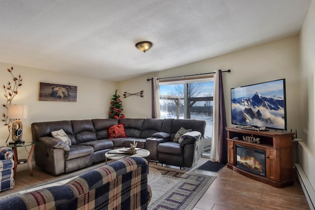
<instances>
[{"instance_id":1,"label":"brown wood-look plank floor around the area rug","mask_svg":"<svg viewBox=\"0 0 315 210\"><path fill-rule=\"evenodd\" d=\"M208 159L198 161L197 168ZM156 163L151 163L155 165ZM160 164L158 164L160 165ZM171 167L165 166L164 167ZM171 167L177 168L178 167ZM184 168L189 171L193 169ZM297 178L294 185L275 188L268 184L252 180L228 169L226 166L219 172L193 170L195 173L217 176L206 193L193 210L305 210L310 209L301 185ZM45 183L63 175L50 175L38 167L33 167L33 175L29 171L17 172L15 187L0 192L0 196L24 190Z\"/></svg>"}]
</instances>

